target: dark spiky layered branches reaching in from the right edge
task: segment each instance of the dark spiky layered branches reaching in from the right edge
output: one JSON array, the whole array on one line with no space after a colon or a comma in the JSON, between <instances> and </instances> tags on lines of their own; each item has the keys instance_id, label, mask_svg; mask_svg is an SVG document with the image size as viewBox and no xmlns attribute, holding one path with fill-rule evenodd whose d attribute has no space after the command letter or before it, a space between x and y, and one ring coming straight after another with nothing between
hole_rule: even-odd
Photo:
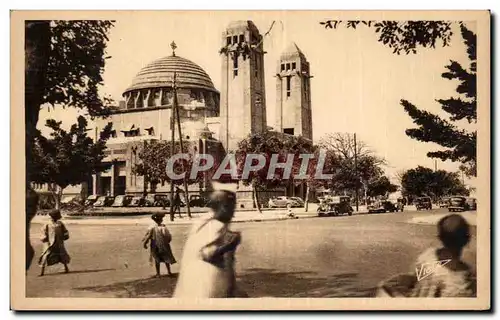
<instances>
[{"instance_id":1,"label":"dark spiky layered branches reaching in from the right edge","mask_svg":"<svg viewBox=\"0 0 500 320\"><path fill-rule=\"evenodd\" d=\"M461 129L458 123L461 120L467 120L469 123L477 122L476 35L463 24L461 32L467 46L470 66L464 68L456 61L451 61L446 66L447 71L441 76L449 80L458 80L456 92L459 97L437 100L441 104L441 108L450 115L449 120L420 110L407 100L401 100L401 105L413 119L413 123L418 126L406 130L406 134L410 138L422 142L434 142L446 148L445 150L429 152L427 156L443 161L458 161L461 163L460 169L470 177L476 176L477 173L477 132Z\"/></svg>"}]
</instances>

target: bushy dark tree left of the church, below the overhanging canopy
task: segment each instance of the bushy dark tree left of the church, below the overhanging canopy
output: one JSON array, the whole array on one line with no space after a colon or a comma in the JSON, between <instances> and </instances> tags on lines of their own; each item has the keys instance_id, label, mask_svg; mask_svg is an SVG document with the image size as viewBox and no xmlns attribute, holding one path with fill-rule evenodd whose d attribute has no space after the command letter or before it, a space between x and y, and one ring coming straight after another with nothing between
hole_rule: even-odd
<instances>
[{"instance_id":1,"label":"bushy dark tree left of the church, below the overhanging canopy","mask_svg":"<svg viewBox=\"0 0 500 320\"><path fill-rule=\"evenodd\" d=\"M56 209L60 207L62 191L69 185L88 181L90 175L109 169L104 165L106 141L111 136L108 123L97 141L87 136L87 120L78 117L77 124L69 131L61 128L61 122L47 120L52 129L50 138L38 134L33 148L33 173L36 183L47 183L53 192Z\"/></svg>"}]
</instances>

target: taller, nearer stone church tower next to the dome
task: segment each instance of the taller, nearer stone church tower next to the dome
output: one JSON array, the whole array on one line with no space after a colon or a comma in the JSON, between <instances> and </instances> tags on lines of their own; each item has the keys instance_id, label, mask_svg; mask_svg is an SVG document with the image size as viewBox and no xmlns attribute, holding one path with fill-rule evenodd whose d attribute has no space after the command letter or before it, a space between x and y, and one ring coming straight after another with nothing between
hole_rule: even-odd
<instances>
[{"instance_id":1,"label":"taller, nearer stone church tower next to the dome","mask_svg":"<svg viewBox=\"0 0 500 320\"><path fill-rule=\"evenodd\" d=\"M252 21L235 21L222 34L220 140L226 151L266 129L263 37Z\"/></svg>"}]
</instances>

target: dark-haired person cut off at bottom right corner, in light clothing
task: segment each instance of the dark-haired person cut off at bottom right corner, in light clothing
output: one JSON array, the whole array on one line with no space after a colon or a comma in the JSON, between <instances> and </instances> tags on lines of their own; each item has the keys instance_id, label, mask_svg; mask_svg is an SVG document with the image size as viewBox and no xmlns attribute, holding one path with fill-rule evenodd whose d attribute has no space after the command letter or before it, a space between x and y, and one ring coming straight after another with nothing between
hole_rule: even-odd
<instances>
[{"instance_id":1,"label":"dark-haired person cut off at bottom right corner, in light clothing","mask_svg":"<svg viewBox=\"0 0 500 320\"><path fill-rule=\"evenodd\" d=\"M475 275L461 259L470 241L469 224L459 214L445 216L438 222L438 238L441 246L425 250L411 274L385 281L379 292L393 297L475 297Z\"/></svg>"}]
</instances>

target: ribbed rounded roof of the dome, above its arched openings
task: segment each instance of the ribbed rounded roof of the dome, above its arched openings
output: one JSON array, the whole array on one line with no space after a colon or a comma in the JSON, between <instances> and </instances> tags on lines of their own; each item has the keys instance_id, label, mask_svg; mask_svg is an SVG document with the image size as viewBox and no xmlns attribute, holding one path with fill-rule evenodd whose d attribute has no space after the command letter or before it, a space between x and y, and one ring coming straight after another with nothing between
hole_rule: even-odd
<instances>
[{"instance_id":1,"label":"ribbed rounded roof of the dome, above its arched openings","mask_svg":"<svg viewBox=\"0 0 500 320\"><path fill-rule=\"evenodd\" d=\"M179 56L169 56L155 60L142 68L124 94L137 89L170 88L174 71L177 72L177 87L179 88L218 92L208 74L199 65Z\"/></svg>"}]
</instances>

